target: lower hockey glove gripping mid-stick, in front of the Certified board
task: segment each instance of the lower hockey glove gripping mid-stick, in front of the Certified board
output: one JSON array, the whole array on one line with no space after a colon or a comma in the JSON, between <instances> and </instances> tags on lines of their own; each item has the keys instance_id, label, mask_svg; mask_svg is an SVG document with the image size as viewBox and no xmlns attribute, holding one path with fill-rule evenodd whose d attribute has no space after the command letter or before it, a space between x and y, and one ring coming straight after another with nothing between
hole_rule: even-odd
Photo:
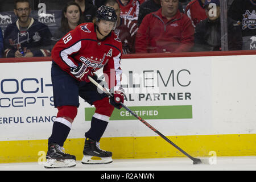
<instances>
[{"instance_id":1,"label":"lower hockey glove gripping mid-stick, in front of the Certified board","mask_svg":"<svg viewBox=\"0 0 256 182\"><path fill-rule=\"evenodd\" d=\"M125 90L121 86L114 86L110 92L112 93L113 97L109 98L109 103L113 105L117 109L121 109L123 103L123 97L125 96Z\"/></svg>"}]
</instances>

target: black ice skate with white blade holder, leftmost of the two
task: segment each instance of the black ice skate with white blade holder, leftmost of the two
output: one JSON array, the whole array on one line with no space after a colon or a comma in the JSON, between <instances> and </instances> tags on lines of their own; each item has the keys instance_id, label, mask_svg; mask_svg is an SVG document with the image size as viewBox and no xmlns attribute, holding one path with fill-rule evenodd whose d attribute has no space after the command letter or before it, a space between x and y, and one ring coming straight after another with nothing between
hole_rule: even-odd
<instances>
[{"instance_id":1,"label":"black ice skate with white blade holder, leftmost of the two","mask_svg":"<svg viewBox=\"0 0 256 182\"><path fill-rule=\"evenodd\" d=\"M66 168L76 166L76 156L66 154L58 144L49 144L46 154L45 168Z\"/></svg>"}]
</instances>

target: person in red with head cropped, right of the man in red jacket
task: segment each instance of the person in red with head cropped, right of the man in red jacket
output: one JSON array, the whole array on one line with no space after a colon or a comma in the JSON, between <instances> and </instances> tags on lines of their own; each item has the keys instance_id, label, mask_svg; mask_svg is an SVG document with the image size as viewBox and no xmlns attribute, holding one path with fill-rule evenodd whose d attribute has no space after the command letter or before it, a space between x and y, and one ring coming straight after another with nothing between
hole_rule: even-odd
<instances>
[{"instance_id":1,"label":"person in red with head cropped, right of the man in red jacket","mask_svg":"<svg viewBox=\"0 0 256 182\"><path fill-rule=\"evenodd\" d=\"M191 19L193 27L196 27L196 24L201 22L201 20L207 19L204 10L204 1L205 0L193 0L188 3L185 9L185 14Z\"/></svg>"}]
</instances>

